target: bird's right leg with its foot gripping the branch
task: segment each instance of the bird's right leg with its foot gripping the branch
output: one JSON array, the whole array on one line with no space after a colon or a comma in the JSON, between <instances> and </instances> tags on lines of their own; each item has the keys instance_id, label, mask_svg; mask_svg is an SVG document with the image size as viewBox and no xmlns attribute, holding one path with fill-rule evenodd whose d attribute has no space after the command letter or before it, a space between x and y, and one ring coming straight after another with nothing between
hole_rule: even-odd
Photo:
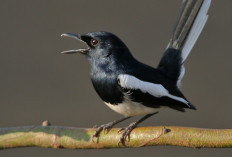
<instances>
[{"instance_id":1,"label":"bird's right leg with its foot gripping the branch","mask_svg":"<svg viewBox=\"0 0 232 157\"><path fill-rule=\"evenodd\" d=\"M156 114L158 112L155 112L155 113L152 113L152 114L148 114L144 117L142 117L141 119L139 119L137 122L133 122L131 123L128 127L126 128L121 128L118 132L122 132L122 136L121 138L119 139L119 142L118 142L118 145L120 143L122 143L122 145L126 146L126 138L128 138L128 141L130 141L130 133L131 131L136 128L138 126L138 124L140 124L141 122L143 122L144 120L146 120L147 118L153 116L154 114Z\"/></svg>"}]
</instances>

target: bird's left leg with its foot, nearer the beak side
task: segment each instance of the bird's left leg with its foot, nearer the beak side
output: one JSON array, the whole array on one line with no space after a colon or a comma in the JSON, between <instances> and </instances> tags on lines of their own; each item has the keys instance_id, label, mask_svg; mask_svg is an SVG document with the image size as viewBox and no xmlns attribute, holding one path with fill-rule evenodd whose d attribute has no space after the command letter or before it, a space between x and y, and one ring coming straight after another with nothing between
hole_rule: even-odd
<instances>
[{"instance_id":1,"label":"bird's left leg with its foot, nearer the beak side","mask_svg":"<svg viewBox=\"0 0 232 157\"><path fill-rule=\"evenodd\" d=\"M121 119L118 119L118 120L114 120L114 121L112 121L112 122L109 122L109 123L107 123L107 124L103 124L103 125L100 125L100 126L98 126L98 125L95 125L93 128L97 128L97 130L94 132L94 134L92 135L92 139L94 138L94 137L98 137L99 136L99 134L100 134L100 132L103 130L104 131L104 133L108 133L111 129L112 129L112 127L114 126L114 125L116 125L116 124L118 124L118 123L120 123L120 122L122 122L122 121L124 121L124 120L126 120L126 119L129 119L130 117L123 117L123 118L121 118Z\"/></svg>"}]
</instances>

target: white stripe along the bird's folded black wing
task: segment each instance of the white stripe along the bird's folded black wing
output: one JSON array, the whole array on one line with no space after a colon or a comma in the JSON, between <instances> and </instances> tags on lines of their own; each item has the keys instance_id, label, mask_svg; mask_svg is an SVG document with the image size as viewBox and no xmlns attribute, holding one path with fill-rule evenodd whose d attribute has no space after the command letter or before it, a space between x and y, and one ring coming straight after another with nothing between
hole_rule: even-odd
<instances>
[{"instance_id":1,"label":"white stripe along the bird's folded black wing","mask_svg":"<svg viewBox=\"0 0 232 157\"><path fill-rule=\"evenodd\" d=\"M149 93L150 95L160 98L160 97L169 97L171 99L180 101L188 105L188 102L181 98L174 96L168 92L161 84L154 84L150 82L145 82L142 80L137 79L134 76L123 74L118 76L119 84L121 87L126 89L139 89L143 93Z\"/></svg>"}]
</instances>

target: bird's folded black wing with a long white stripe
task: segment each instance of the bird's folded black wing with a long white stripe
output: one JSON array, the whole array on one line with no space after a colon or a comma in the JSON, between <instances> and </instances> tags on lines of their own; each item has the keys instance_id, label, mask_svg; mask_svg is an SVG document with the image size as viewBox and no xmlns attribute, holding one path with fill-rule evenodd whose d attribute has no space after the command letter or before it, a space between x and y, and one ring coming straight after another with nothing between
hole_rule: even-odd
<instances>
[{"instance_id":1,"label":"bird's folded black wing with a long white stripe","mask_svg":"<svg viewBox=\"0 0 232 157\"><path fill-rule=\"evenodd\" d=\"M170 94L162 84L146 82L128 74L118 76L119 85L134 101L139 101L149 107L169 106L171 108L192 108L194 107L183 97ZM172 106L173 105L173 106Z\"/></svg>"}]
</instances>

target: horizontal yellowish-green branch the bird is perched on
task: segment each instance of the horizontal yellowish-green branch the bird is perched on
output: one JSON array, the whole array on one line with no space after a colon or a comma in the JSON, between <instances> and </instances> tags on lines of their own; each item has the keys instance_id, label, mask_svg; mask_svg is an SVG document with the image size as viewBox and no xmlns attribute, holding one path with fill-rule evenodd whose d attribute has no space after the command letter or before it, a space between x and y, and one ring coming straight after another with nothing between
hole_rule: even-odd
<instances>
[{"instance_id":1,"label":"horizontal yellowish-green branch the bird is perched on","mask_svg":"<svg viewBox=\"0 0 232 157\"><path fill-rule=\"evenodd\" d=\"M140 127L131 132L127 147L172 145L191 148L232 147L231 129L201 129L187 127ZM164 131L165 130L165 131ZM0 149L16 147L46 147L68 149L120 148L118 129L91 140L95 129L60 126L24 126L0 128Z\"/></svg>"}]
</instances>

